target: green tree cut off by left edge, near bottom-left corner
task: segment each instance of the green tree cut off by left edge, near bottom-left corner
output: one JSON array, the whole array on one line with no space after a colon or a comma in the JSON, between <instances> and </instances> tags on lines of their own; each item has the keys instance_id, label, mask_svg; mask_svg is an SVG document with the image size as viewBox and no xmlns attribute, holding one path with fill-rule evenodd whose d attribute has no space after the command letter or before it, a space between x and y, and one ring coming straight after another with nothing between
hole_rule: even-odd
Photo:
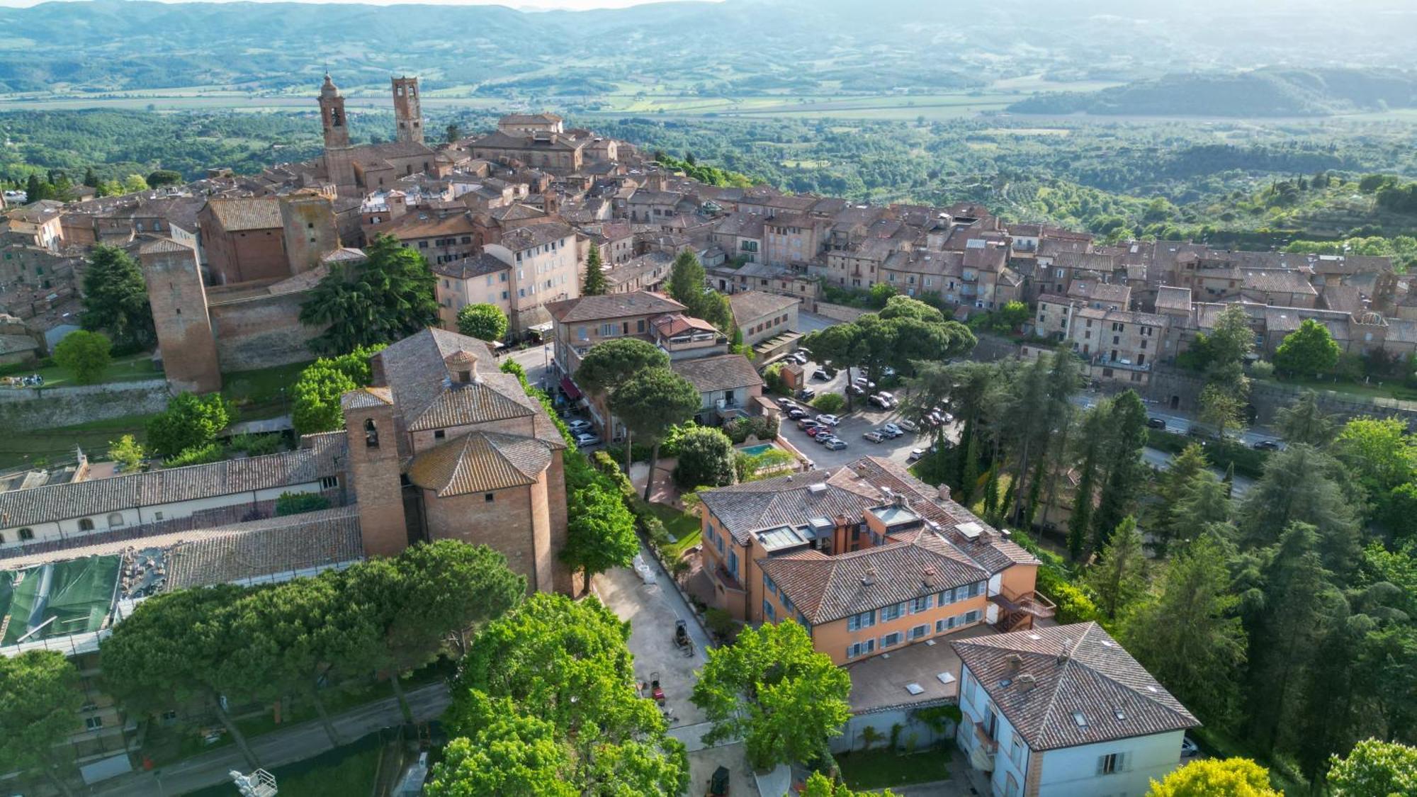
<instances>
[{"instance_id":1,"label":"green tree cut off by left edge, near bottom-left corner","mask_svg":"<svg viewBox=\"0 0 1417 797\"><path fill-rule=\"evenodd\" d=\"M79 671L58 651L0 657L0 762L7 770L43 773L64 794L78 730Z\"/></svg>"}]
</instances>

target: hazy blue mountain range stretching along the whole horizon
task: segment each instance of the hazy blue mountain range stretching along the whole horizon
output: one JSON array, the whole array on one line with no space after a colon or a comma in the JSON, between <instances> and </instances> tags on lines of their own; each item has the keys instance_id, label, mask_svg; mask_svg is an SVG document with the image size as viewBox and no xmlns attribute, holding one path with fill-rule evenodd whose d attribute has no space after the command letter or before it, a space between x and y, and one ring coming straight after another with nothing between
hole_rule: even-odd
<instances>
[{"instance_id":1,"label":"hazy blue mountain range stretching along the whole horizon","mask_svg":"<svg viewBox=\"0 0 1417 797\"><path fill-rule=\"evenodd\" d=\"M503 6L79 0L0 9L0 92L387 87L580 98L928 92L1003 78L1417 67L1410 0L724 0L597 11Z\"/></svg>"}]
</instances>

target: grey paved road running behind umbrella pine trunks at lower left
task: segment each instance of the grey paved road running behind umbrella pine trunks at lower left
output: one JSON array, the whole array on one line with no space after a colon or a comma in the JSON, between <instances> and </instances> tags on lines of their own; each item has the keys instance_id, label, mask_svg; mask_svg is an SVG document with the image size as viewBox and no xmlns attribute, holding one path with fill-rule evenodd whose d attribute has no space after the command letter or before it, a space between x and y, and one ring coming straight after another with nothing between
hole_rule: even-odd
<instances>
[{"instance_id":1,"label":"grey paved road running behind umbrella pine trunks at lower left","mask_svg":"<svg viewBox=\"0 0 1417 797\"><path fill-rule=\"evenodd\" d=\"M436 719L451 698L442 682L429 684L408 691L408 705L419 722ZM334 729L346 742L367 736L381 728L402 725L404 715L394 698L385 698L334 718ZM251 747L265 769L289 764L317 756L332 747L330 737L319 720L296 725L288 730L276 730L251 740ZM208 786L228 783L231 770L247 771L248 766L235 745L194 756L160 770L160 781L154 773L133 773L95 786L89 794L113 797L152 797L154 794L186 794Z\"/></svg>"}]
</instances>

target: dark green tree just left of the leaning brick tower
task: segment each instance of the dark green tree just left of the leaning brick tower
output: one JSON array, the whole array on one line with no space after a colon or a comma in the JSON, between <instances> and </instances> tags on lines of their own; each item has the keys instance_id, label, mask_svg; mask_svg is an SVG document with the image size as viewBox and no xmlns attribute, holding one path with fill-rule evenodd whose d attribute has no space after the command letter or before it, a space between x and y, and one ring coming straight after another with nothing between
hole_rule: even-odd
<instances>
[{"instance_id":1,"label":"dark green tree just left of the leaning brick tower","mask_svg":"<svg viewBox=\"0 0 1417 797\"><path fill-rule=\"evenodd\" d=\"M89 332L108 335L119 350L149 349L157 343L143 271L126 251L98 244L89 252L79 322Z\"/></svg>"}]
</instances>

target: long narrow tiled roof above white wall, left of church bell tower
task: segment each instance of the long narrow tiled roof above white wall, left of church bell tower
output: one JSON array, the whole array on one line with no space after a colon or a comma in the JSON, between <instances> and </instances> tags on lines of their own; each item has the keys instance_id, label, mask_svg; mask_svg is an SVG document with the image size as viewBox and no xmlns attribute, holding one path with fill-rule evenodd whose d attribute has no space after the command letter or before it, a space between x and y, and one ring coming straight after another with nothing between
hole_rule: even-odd
<instances>
[{"instance_id":1,"label":"long narrow tiled roof above white wall, left of church bell tower","mask_svg":"<svg viewBox=\"0 0 1417 797\"><path fill-rule=\"evenodd\" d=\"M0 528L105 515L135 506L198 501L319 481L339 474L344 433L307 435L310 448L207 465L0 492Z\"/></svg>"}]
</instances>

